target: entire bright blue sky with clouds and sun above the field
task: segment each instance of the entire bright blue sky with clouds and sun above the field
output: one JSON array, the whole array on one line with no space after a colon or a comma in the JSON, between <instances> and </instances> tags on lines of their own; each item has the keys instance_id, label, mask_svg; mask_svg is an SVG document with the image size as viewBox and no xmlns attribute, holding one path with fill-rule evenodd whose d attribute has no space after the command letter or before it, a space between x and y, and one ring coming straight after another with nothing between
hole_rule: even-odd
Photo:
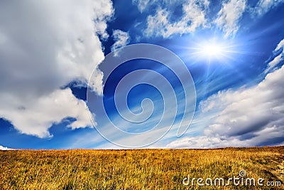
<instances>
[{"instance_id":1,"label":"entire bright blue sky with clouds and sun above the field","mask_svg":"<svg viewBox=\"0 0 284 190\"><path fill-rule=\"evenodd\" d=\"M284 145L283 11L1 1L0 149Z\"/></svg>"}]
</instances>

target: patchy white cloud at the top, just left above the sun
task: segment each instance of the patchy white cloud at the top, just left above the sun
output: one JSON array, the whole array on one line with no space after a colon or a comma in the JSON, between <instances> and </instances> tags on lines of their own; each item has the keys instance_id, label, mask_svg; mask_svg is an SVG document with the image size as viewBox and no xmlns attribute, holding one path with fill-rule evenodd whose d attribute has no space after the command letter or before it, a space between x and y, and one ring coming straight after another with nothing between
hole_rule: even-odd
<instances>
[{"instance_id":1,"label":"patchy white cloud at the top, just left above the sun","mask_svg":"<svg viewBox=\"0 0 284 190\"><path fill-rule=\"evenodd\" d=\"M209 1L186 1L182 4L182 16L173 20L173 13L168 8L156 9L155 15L147 18L145 35L168 38L174 34L192 33L206 23L205 9ZM176 7L176 9L178 9Z\"/></svg>"}]
</instances>

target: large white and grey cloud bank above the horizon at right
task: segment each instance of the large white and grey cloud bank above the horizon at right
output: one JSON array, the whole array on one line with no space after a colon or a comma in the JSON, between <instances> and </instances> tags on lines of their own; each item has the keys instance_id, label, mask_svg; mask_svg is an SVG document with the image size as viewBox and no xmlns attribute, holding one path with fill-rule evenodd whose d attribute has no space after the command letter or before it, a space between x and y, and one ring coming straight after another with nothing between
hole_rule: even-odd
<instances>
[{"instance_id":1,"label":"large white and grey cloud bank above the horizon at right","mask_svg":"<svg viewBox=\"0 0 284 190\"><path fill-rule=\"evenodd\" d=\"M283 46L281 41L277 48ZM276 48L276 49L277 49ZM215 115L200 137L186 137L168 147L247 147L284 142L284 65L251 88L227 90L200 103Z\"/></svg>"}]
</instances>

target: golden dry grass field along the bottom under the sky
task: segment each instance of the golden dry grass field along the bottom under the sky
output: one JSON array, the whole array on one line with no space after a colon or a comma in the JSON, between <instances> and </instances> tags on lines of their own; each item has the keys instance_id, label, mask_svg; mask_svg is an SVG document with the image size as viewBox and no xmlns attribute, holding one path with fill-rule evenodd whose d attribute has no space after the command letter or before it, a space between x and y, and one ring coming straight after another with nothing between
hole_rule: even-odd
<instances>
[{"instance_id":1,"label":"golden dry grass field along the bottom under the sky","mask_svg":"<svg viewBox=\"0 0 284 190\"><path fill-rule=\"evenodd\" d=\"M15 150L0 160L0 189L284 189L284 147ZM241 170L282 185L182 184L187 175L228 180Z\"/></svg>"}]
</instances>

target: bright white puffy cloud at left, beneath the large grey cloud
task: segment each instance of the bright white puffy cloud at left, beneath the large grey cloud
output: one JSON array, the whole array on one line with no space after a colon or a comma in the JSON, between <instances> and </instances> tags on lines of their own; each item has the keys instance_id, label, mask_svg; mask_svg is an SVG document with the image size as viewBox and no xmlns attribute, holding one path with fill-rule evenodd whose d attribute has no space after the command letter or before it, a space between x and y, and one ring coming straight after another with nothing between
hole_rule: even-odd
<instances>
[{"instance_id":1,"label":"bright white puffy cloud at left, beneath the large grey cloud","mask_svg":"<svg viewBox=\"0 0 284 190\"><path fill-rule=\"evenodd\" d=\"M51 137L48 128L60 123L65 117L77 119L68 125L72 129L92 126L86 102L72 95L70 88L55 90L49 95L26 102L20 102L21 100L17 97L11 97L8 94L0 95L0 97L2 101L9 102L1 106L1 116L10 120L18 131L25 134Z\"/></svg>"}]
</instances>

